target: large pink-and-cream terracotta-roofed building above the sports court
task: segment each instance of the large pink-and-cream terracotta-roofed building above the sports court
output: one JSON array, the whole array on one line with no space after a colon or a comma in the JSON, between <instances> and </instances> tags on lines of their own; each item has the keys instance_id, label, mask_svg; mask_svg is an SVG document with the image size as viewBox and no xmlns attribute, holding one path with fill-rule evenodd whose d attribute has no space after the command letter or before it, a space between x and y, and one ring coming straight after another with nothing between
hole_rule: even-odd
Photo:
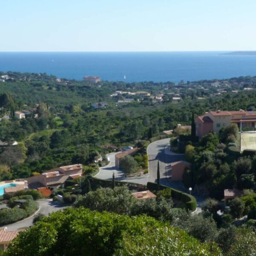
<instances>
[{"instance_id":1,"label":"large pink-and-cream terracotta-roofed building above the sports court","mask_svg":"<svg viewBox=\"0 0 256 256\"><path fill-rule=\"evenodd\" d=\"M221 128L226 127L231 123L237 123L244 127L255 128L256 112L255 111L210 111L204 116L195 118L196 133L198 137L208 134L210 131L218 133Z\"/></svg>"}]
</instances>

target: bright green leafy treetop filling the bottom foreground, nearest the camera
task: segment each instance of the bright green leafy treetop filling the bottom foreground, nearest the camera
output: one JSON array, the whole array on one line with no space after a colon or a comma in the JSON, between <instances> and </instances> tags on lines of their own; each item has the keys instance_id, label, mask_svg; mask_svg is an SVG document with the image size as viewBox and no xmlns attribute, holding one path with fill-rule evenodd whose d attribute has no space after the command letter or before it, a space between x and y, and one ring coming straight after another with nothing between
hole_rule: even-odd
<instances>
[{"instance_id":1,"label":"bright green leafy treetop filling the bottom foreground, nearest the camera","mask_svg":"<svg viewBox=\"0 0 256 256\"><path fill-rule=\"evenodd\" d=\"M219 256L221 251L153 218L67 207L21 232L5 255Z\"/></svg>"}]
</instances>

